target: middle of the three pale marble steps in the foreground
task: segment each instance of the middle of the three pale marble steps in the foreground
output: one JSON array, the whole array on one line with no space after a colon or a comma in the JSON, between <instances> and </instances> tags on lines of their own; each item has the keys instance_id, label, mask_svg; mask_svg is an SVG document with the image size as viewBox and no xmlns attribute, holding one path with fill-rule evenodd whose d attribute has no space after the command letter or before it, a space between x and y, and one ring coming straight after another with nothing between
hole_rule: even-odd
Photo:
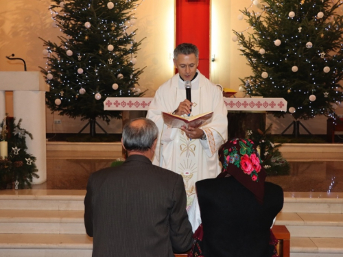
<instances>
[{"instance_id":1,"label":"middle of the three pale marble steps in the foreground","mask_svg":"<svg viewBox=\"0 0 343 257\"><path fill-rule=\"evenodd\" d=\"M83 210L0 210L2 234L85 234ZM294 237L343 238L343 214L279 213L276 225L286 225Z\"/></svg>"}]
</instances>

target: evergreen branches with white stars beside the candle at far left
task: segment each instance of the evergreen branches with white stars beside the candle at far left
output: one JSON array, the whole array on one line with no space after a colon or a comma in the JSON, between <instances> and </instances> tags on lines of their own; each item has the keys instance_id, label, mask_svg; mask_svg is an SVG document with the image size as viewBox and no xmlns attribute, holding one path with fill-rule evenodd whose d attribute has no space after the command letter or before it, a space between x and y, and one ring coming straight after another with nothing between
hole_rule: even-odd
<instances>
[{"instance_id":1,"label":"evergreen branches with white stars beside the candle at far left","mask_svg":"<svg viewBox=\"0 0 343 257\"><path fill-rule=\"evenodd\" d=\"M14 119L8 122L8 158L0 158L0 188L12 188L14 182L19 182L18 188L31 188L33 178L39 178L36 157L27 153L26 136L32 139L32 134L21 128L21 119L16 124ZM3 130L3 123L1 123Z\"/></svg>"}]
</instances>

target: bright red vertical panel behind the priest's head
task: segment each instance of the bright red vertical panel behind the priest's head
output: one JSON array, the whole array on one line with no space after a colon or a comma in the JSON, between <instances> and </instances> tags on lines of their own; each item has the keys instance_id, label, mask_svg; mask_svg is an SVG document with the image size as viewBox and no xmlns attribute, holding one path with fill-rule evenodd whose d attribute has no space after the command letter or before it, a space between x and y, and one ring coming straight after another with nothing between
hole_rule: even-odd
<instances>
[{"instance_id":1,"label":"bright red vertical panel behind the priest's head","mask_svg":"<svg viewBox=\"0 0 343 257\"><path fill-rule=\"evenodd\" d=\"M176 45L189 42L199 49L200 72L210 75L210 2L176 0Z\"/></svg>"}]
</instances>

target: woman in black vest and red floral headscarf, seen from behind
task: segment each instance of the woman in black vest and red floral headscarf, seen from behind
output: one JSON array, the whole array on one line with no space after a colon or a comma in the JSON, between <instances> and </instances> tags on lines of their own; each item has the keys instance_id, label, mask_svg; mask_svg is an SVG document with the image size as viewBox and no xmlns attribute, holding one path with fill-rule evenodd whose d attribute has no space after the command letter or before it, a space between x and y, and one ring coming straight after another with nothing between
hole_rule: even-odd
<instances>
[{"instance_id":1,"label":"woman in black vest and red floral headscarf, seen from behind","mask_svg":"<svg viewBox=\"0 0 343 257\"><path fill-rule=\"evenodd\" d=\"M193 230L202 223L203 256L272 256L270 228L283 208L282 188L265 182L252 140L233 139L219 151L222 173L196 182L198 201L189 210Z\"/></svg>"}]
</instances>

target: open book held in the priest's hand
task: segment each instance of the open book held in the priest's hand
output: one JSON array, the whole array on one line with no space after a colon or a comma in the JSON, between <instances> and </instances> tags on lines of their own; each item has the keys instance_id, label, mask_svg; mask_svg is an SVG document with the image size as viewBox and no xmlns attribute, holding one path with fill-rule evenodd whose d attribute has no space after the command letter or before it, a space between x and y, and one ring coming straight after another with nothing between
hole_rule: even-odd
<instances>
[{"instance_id":1,"label":"open book held in the priest's hand","mask_svg":"<svg viewBox=\"0 0 343 257\"><path fill-rule=\"evenodd\" d=\"M163 121L169 127L201 127L212 121L213 112L206 112L191 117L182 117L176 114L162 112Z\"/></svg>"}]
</instances>

